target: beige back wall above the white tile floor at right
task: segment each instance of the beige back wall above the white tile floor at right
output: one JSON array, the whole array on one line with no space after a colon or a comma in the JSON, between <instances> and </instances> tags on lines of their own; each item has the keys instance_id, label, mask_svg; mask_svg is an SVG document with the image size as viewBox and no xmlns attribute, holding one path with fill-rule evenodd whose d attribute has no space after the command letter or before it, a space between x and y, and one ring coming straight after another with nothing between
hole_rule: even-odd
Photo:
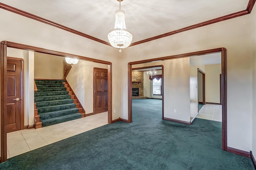
<instances>
[{"instance_id":1,"label":"beige back wall above the white tile floor at right","mask_svg":"<svg viewBox=\"0 0 256 170\"><path fill-rule=\"evenodd\" d=\"M220 103L221 64L205 66L205 100L209 103Z\"/></svg>"}]
</instances>

